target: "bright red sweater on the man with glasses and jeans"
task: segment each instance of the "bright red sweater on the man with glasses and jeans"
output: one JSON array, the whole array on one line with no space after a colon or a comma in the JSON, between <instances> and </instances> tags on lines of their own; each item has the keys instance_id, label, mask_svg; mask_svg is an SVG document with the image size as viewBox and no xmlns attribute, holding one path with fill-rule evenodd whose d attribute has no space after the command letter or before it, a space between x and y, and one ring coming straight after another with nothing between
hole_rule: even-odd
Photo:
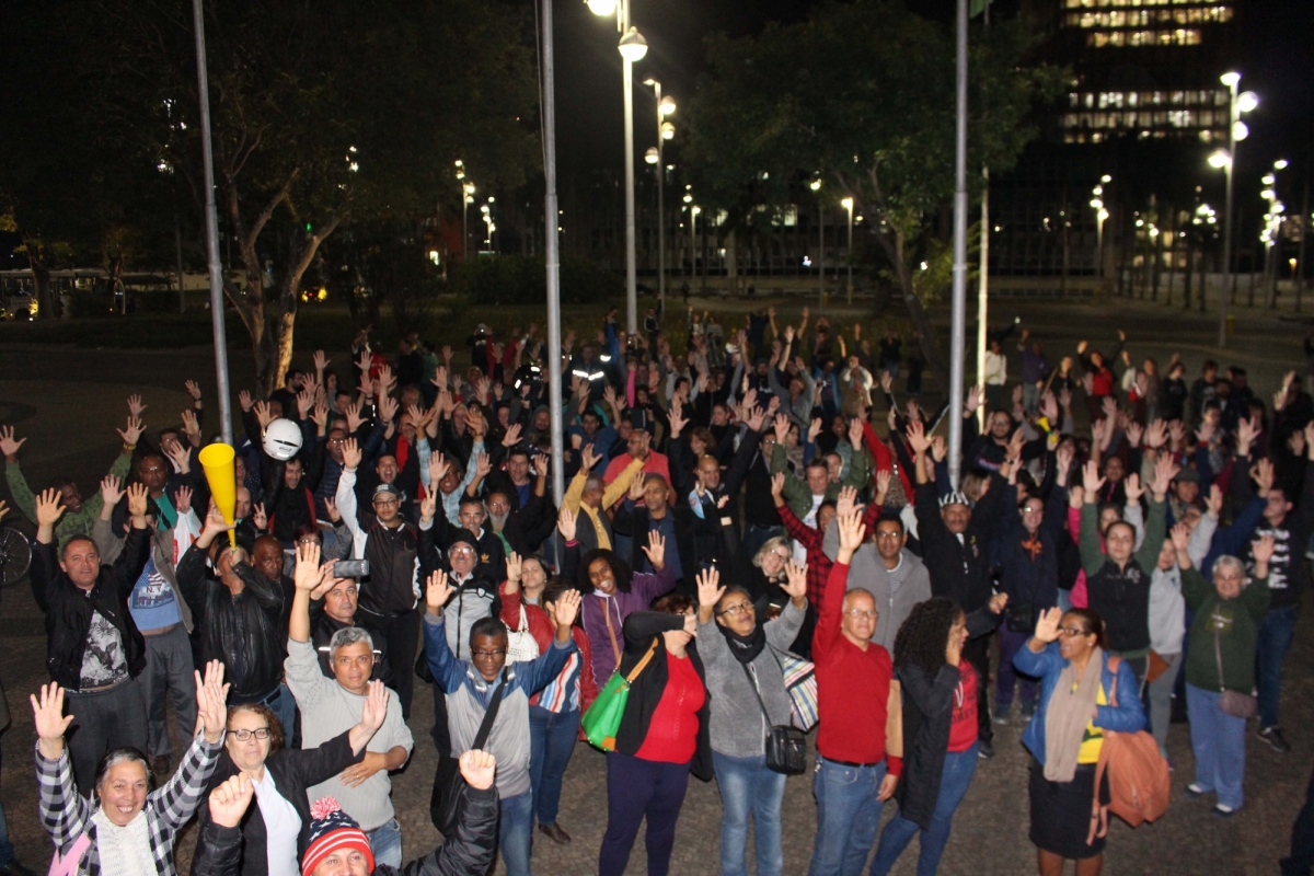
<instances>
[{"instance_id":1,"label":"bright red sweater on the man with glasses and jeans","mask_svg":"<svg viewBox=\"0 0 1314 876\"><path fill-rule=\"evenodd\" d=\"M870 642L866 650L840 630L849 566L830 569L817 607L812 659L817 676L817 753L828 760L879 763L886 759L886 718L894 666L890 651ZM901 763L890 759L890 772Z\"/></svg>"}]
</instances>

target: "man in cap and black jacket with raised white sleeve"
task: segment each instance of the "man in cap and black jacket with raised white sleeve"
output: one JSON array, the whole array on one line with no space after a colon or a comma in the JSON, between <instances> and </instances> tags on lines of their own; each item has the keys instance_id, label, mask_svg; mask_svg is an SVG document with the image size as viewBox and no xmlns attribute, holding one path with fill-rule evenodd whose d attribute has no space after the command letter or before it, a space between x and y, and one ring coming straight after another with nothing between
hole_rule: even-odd
<instances>
[{"instance_id":1,"label":"man in cap and black jacket with raised white sleeve","mask_svg":"<svg viewBox=\"0 0 1314 876\"><path fill-rule=\"evenodd\" d=\"M338 481L338 512L347 521L352 536L351 556L369 561L369 580L360 590L357 611L371 617L376 629L388 642L388 654L399 670L415 662L419 638L420 566L438 565L434 533L430 524L420 521L419 529L402 517L402 496L392 483L374 489L371 506L373 521L361 525L356 512L356 469L361 452L355 439L343 447L342 478ZM398 671L397 700L402 714L410 716L411 672Z\"/></svg>"}]
</instances>

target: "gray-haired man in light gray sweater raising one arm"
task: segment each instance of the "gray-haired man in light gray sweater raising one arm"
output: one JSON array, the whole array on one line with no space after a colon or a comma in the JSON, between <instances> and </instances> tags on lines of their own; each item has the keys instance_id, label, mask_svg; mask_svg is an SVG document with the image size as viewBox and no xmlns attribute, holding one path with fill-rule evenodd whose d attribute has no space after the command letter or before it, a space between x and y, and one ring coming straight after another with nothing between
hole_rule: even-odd
<instances>
[{"instance_id":1,"label":"gray-haired man in light gray sweater raising one arm","mask_svg":"<svg viewBox=\"0 0 1314 876\"><path fill-rule=\"evenodd\" d=\"M310 599L331 592L342 580L332 577L331 565L319 565L319 546L309 544L297 546L293 582L296 596L288 617L288 659L283 668L301 708L301 747L314 749L360 721L374 670L374 644L360 626L336 630L328 641L332 679L325 678L310 642ZM311 800L336 797L343 812L369 837L374 860L381 864L399 867L402 862L402 834L388 774L406 763L414 745L397 697L389 697L388 717L365 746L364 759L307 789Z\"/></svg>"}]
</instances>

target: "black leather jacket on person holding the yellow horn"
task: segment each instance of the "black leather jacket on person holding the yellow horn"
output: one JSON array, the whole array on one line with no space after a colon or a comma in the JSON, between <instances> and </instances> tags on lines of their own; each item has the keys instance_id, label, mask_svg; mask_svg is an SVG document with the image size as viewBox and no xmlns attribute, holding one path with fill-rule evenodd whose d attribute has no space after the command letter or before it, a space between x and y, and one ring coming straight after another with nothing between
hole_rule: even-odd
<instances>
[{"instance_id":1,"label":"black leather jacket on person holding the yellow horn","mask_svg":"<svg viewBox=\"0 0 1314 876\"><path fill-rule=\"evenodd\" d=\"M223 680L233 684L229 705L264 700L283 680L290 594L242 563L237 573L244 588L234 595L205 559L206 552L192 545L177 563L177 586L196 624L197 659L223 662Z\"/></svg>"}]
</instances>

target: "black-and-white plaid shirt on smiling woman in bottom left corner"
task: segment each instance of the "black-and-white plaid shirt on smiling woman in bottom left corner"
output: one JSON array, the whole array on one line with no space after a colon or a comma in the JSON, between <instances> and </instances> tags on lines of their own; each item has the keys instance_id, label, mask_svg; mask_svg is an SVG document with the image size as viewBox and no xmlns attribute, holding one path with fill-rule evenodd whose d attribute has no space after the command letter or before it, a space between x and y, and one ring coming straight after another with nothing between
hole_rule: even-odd
<instances>
[{"instance_id":1,"label":"black-and-white plaid shirt on smiling woman in bottom left corner","mask_svg":"<svg viewBox=\"0 0 1314 876\"><path fill-rule=\"evenodd\" d=\"M39 745L39 743L38 743ZM196 808L205 800L205 785L223 751L223 739L210 745L205 734L197 734L192 747L183 756L177 772L163 788L146 797L146 826L150 833L151 858L159 876L177 876L173 867L173 837L191 821ZM41 823L63 855L85 831L91 846L78 864L79 876L100 876L100 851L96 847L95 808L74 788L72 762L68 747L58 760L49 760L37 749L37 785L41 793ZM109 876L113 876L112 873Z\"/></svg>"}]
</instances>

